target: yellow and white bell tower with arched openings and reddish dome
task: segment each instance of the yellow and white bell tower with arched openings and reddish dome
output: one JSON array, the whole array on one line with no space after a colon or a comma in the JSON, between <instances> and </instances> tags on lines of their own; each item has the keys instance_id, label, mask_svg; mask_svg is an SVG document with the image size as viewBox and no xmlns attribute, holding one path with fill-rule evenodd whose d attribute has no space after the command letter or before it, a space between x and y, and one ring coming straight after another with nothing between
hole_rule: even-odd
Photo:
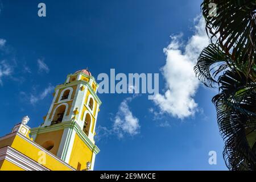
<instances>
[{"instance_id":1,"label":"yellow and white bell tower with arched openings and reddish dome","mask_svg":"<svg viewBox=\"0 0 256 182\"><path fill-rule=\"evenodd\" d=\"M77 170L90 163L100 150L94 135L101 101L98 84L88 71L82 69L67 76L57 85L44 122L31 129L31 138Z\"/></svg>"}]
</instances>

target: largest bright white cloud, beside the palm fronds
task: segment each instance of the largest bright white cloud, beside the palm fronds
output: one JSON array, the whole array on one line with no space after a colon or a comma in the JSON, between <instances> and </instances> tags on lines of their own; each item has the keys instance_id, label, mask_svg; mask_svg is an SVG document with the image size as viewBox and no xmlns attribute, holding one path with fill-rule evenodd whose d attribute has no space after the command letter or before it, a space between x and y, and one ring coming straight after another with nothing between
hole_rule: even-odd
<instances>
[{"instance_id":1,"label":"largest bright white cloud, beside the palm fronds","mask_svg":"<svg viewBox=\"0 0 256 182\"><path fill-rule=\"evenodd\" d=\"M209 44L204 18L197 18L195 22L195 34L186 44L181 43L180 34L171 36L171 43L164 48L166 65L162 68L162 73L167 90L164 94L157 94L154 100L161 113L168 113L180 119L192 116L197 111L193 97L199 88L199 81L193 67L203 48Z\"/></svg>"}]
</instances>

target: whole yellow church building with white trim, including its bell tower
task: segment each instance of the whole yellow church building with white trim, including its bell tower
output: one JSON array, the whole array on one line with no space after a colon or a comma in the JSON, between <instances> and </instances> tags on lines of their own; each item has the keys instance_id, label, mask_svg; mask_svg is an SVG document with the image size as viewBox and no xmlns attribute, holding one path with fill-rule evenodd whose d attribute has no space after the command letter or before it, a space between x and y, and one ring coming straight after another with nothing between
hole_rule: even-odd
<instances>
[{"instance_id":1,"label":"whole yellow church building with white trim, including its bell tower","mask_svg":"<svg viewBox=\"0 0 256 182\"><path fill-rule=\"evenodd\" d=\"M26 116L0 138L0 170L93 170L100 152L93 139L101 105L97 89L88 69L68 75L39 127L30 129Z\"/></svg>"}]
</instances>

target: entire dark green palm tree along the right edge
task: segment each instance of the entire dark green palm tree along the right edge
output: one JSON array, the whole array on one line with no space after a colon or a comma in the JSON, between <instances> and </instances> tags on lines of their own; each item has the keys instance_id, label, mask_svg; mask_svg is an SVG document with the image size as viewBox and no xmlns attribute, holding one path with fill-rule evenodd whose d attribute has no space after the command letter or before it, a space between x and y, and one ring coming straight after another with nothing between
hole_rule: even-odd
<instances>
[{"instance_id":1,"label":"entire dark green palm tree along the right edge","mask_svg":"<svg viewBox=\"0 0 256 182\"><path fill-rule=\"evenodd\" d=\"M213 16L210 3L217 7ZM201 52L195 73L219 89L212 101L226 166L256 170L256 1L204 0L201 9L212 43Z\"/></svg>"}]
</instances>

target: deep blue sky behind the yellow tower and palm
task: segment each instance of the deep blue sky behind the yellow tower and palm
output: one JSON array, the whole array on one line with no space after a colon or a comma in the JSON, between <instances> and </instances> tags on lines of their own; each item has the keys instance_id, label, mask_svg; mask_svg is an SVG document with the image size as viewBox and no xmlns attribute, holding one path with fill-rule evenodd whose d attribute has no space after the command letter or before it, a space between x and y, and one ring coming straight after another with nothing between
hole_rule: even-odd
<instances>
[{"instance_id":1,"label":"deep blue sky behind the yellow tower and palm","mask_svg":"<svg viewBox=\"0 0 256 182\"><path fill-rule=\"evenodd\" d=\"M37 15L40 2L46 3L44 18ZM205 39L198 28L202 27L200 18L195 21L200 3L0 1L0 135L9 133L24 115L30 117L30 127L39 126L51 104L52 88L63 83L68 73L86 67L96 78L109 74L110 68L125 74L159 73L156 101L148 100L147 94L131 101L127 99L132 94L98 95L101 152L94 169L226 170L224 142L211 102L217 92L189 75L180 76L196 61L194 51L199 50L191 47L202 46L197 38ZM176 63L184 63L184 69ZM192 85L184 87L184 94L196 105L187 110L168 107L176 103L172 93L180 93L175 101L183 101L179 85L188 84ZM170 98L164 96L168 90ZM115 125L117 116L124 115L121 106L138 122L131 132ZM212 150L217 152L217 165L208 163Z\"/></svg>"}]
</instances>

